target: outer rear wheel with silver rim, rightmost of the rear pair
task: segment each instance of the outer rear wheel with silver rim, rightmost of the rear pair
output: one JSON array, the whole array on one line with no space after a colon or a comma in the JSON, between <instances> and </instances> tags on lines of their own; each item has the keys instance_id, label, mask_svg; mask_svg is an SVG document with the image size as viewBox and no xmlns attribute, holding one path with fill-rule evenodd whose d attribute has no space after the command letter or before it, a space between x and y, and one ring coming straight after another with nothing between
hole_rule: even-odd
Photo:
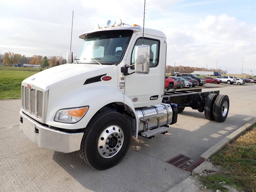
<instances>
[{"instance_id":1,"label":"outer rear wheel with silver rim, rightmost of the rear pair","mask_svg":"<svg viewBox=\"0 0 256 192\"><path fill-rule=\"evenodd\" d=\"M213 118L217 122L224 122L228 116L229 98L228 95L218 95L213 104Z\"/></svg>"}]
</instances>

